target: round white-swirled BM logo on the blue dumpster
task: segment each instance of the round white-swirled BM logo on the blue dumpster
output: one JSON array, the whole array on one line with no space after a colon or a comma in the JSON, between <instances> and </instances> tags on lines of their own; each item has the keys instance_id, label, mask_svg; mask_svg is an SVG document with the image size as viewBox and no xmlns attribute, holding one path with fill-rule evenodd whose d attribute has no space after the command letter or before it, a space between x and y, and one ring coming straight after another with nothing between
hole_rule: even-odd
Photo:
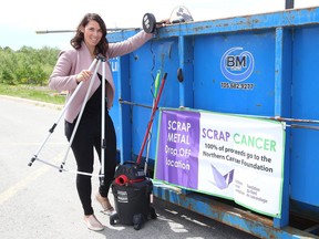
<instances>
[{"instance_id":1,"label":"round white-swirled BM logo on the blue dumpster","mask_svg":"<svg viewBox=\"0 0 319 239\"><path fill-rule=\"evenodd\" d=\"M243 48L236 46L227 50L220 60L223 75L231 82L247 80L255 66L254 56Z\"/></svg>"}]
</instances>

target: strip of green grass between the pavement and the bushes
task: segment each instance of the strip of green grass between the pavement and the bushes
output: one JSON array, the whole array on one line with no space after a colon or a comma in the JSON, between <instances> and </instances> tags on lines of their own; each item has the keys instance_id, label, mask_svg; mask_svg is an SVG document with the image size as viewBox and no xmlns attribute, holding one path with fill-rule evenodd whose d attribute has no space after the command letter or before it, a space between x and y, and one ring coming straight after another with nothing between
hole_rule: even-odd
<instances>
[{"instance_id":1,"label":"strip of green grass between the pavement and the bushes","mask_svg":"<svg viewBox=\"0 0 319 239\"><path fill-rule=\"evenodd\" d=\"M63 105L65 102L65 95L51 91L48 86L0 84L0 95L9 95L59 105Z\"/></svg>"}]
</instances>

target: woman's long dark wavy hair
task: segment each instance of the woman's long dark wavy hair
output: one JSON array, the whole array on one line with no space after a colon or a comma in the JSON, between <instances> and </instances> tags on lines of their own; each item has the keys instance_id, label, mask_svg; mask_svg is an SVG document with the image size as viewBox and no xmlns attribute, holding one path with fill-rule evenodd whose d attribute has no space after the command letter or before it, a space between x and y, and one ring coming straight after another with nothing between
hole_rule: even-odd
<instances>
[{"instance_id":1,"label":"woman's long dark wavy hair","mask_svg":"<svg viewBox=\"0 0 319 239\"><path fill-rule=\"evenodd\" d=\"M70 43L76 50L81 48L81 43L82 43L82 41L84 41L84 33L81 32L81 28L82 27L85 28L85 25L92 20L96 21L100 24L100 28L101 28L102 33L103 33L101 41L99 42L99 44L94 49L94 54L95 55L102 54L102 55L106 56L106 52L109 50L109 41L106 39L106 33L107 33L106 25L105 25L103 19L96 13L86 13L84 15L84 18L82 19L82 21L80 22L80 24L76 28L75 35L71 39Z\"/></svg>"}]
</instances>

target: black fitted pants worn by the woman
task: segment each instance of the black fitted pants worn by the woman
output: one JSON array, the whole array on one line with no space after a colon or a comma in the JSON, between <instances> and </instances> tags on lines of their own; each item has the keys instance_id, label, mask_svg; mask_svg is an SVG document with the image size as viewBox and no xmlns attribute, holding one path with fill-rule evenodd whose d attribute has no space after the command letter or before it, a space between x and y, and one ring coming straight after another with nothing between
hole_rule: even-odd
<instances>
[{"instance_id":1,"label":"black fitted pants worn by the woman","mask_svg":"<svg viewBox=\"0 0 319 239\"><path fill-rule=\"evenodd\" d=\"M65 122L65 136L70 141L72 136L74 123ZM110 117L107 111L105 114L105 141L106 148L104 154L104 185L101 185L99 191L103 197L107 197L110 186L114 179L114 173L116 167L116 136L113 125L113 121ZM99 155L101 163L101 115L82 115L81 122L78 126L73 143L71 145L73 150L78 170L92 174L94 165L94 148ZM92 215L92 184L91 176L80 175L76 176L76 189L84 210L84 215Z\"/></svg>"}]
</instances>

